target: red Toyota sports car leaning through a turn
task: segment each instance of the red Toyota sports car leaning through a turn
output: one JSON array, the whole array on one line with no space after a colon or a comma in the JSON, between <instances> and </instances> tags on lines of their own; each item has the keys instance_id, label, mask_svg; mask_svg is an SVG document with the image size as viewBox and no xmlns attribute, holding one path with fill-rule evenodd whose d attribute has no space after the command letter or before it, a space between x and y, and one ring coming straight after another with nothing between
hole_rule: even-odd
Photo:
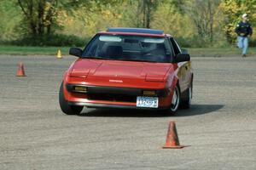
<instances>
[{"instance_id":1,"label":"red Toyota sports car leaning through a turn","mask_svg":"<svg viewBox=\"0 0 256 170\"><path fill-rule=\"evenodd\" d=\"M108 28L69 54L79 59L61 82L59 103L65 114L79 114L84 106L170 113L189 108L190 56L164 31Z\"/></svg>"}]
</instances>

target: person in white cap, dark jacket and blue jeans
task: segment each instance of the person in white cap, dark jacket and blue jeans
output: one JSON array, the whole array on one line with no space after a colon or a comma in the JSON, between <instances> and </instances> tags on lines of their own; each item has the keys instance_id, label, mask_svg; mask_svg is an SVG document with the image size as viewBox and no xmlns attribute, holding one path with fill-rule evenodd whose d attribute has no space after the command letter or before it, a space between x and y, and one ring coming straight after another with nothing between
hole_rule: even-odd
<instances>
[{"instance_id":1,"label":"person in white cap, dark jacket and blue jeans","mask_svg":"<svg viewBox=\"0 0 256 170\"><path fill-rule=\"evenodd\" d=\"M237 46L238 48L242 48L242 57L247 56L247 48L248 48L248 37L251 37L253 34L253 29L248 22L247 14L242 14L241 22L236 26L236 34L237 34Z\"/></svg>"}]
</instances>

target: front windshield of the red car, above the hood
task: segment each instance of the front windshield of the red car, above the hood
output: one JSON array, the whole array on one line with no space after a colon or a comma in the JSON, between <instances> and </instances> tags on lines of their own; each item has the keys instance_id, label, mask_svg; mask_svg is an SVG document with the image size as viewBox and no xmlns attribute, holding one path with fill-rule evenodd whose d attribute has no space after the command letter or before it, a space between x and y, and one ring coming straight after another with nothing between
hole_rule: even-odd
<instances>
[{"instance_id":1,"label":"front windshield of the red car, above the hood","mask_svg":"<svg viewBox=\"0 0 256 170\"><path fill-rule=\"evenodd\" d=\"M172 60L172 48L166 37L98 34L83 57L165 63Z\"/></svg>"}]
</instances>

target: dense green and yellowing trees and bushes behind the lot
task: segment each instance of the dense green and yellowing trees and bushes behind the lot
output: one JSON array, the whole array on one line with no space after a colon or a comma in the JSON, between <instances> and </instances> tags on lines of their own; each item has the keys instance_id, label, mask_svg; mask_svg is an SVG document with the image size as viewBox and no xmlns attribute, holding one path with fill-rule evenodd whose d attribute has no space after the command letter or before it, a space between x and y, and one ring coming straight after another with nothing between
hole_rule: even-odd
<instances>
[{"instance_id":1,"label":"dense green and yellowing trees and bushes behind the lot","mask_svg":"<svg viewBox=\"0 0 256 170\"><path fill-rule=\"evenodd\" d=\"M130 26L163 29L186 47L220 47L235 44L241 14L256 26L255 9L256 0L1 0L0 42L81 46L96 31Z\"/></svg>"}]
</instances>

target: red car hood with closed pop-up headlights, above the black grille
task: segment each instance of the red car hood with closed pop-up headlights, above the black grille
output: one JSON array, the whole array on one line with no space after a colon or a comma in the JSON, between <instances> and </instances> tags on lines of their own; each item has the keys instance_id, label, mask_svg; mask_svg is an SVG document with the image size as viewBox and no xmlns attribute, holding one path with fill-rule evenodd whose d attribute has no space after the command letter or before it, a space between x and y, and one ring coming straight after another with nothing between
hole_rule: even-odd
<instances>
[{"instance_id":1,"label":"red car hood with closed pop-up headlights, above the black grille","mask_svg":"<svg viewBox=\"0 0 256 170\"><path fill-rule=\"evenodd\" d=\"M144 79L150 82L164 82L171 63L148 63L135 61L78 59L70 76L108 77L109 79Z\"/></svg>"}]
</instances>

